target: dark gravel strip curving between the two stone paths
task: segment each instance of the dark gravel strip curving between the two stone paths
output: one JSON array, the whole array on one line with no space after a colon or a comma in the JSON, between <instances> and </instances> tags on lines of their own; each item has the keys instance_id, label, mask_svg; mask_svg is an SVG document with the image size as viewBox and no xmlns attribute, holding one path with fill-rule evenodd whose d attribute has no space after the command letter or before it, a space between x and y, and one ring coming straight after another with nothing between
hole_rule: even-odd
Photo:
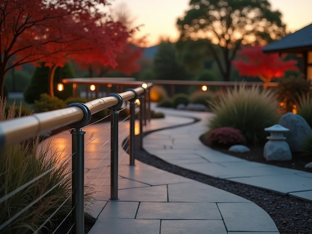
<instances>
[{"instance_id":1,"label":"dark gravel strip curving between the two stone paths","mask_svg":"<svg viewBox=\"0 0 312 234\"><path fill-rule=\"evenodd\" d=\"M179 116L184 117L184 116ZM190 117L186 117L190 118ZM161 129L155 129L144 132L144 136L155 131L164 129L173 129L190 124L194 124L200 119L194 119L192 123L175 125ZM236 183L225 179L214 178L202 173L191 171L176 165L167 163L163 159L155 155L149 154L145 149L139 149L139 135L135 136L135 156L136 159L142 163L149 164L158 169L168 171L170 173L183 176L201 183L220 188L227 192L236 194L240 197L246 198L256 205L264 209L275 222L280 234L311 234L312 229L312 203L303 201L294 197L289 197L274 193L271 191L254 188L246 184ZM123 141L126 141L126 139ZM128 143L124 146L124 150L129 146ZM286 183L286 181L285 181Z\"/></svg>"}]
</instances>

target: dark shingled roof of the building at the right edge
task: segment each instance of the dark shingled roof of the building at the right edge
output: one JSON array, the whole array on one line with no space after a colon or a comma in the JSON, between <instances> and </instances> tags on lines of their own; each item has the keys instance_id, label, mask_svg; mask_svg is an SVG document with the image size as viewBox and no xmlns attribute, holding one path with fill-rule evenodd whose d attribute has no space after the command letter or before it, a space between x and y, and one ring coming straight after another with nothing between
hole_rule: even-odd
<instances>
[{"instance_id":1,"label":"dark shingled roof of the building at the right edge","mask_svg":"<svg viewBox=\"0 0 312 234\"><path fill-rule=\"evenodd\" d=\"M263 48L263 52L300 52L312 47L312 24L274 41Z\"/></svg>"}]
</instances>

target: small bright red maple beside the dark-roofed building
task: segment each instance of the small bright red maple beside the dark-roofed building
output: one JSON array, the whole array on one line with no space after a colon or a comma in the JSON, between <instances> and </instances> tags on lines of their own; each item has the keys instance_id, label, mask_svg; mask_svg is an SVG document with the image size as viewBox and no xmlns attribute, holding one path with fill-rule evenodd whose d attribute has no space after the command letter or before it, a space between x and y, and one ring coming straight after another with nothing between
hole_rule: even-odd
<instances>
[{"instance_id":1,"label":"small bright red maple beside the dark-roofed building","mask_svg":"<svg viewBox=\"0 0 312 234\"><path fill-rule=\"evenodd\" d=\"M232 61L239 74L241 76L259 77L265 83L284 76L285 71L298 71L296 60L284 61L285 54L282 56L278 53L265 54L258 44L242 47L240 51L237 51L237 55L244 57L244 59Z\"/></svg>"}]
</instances>

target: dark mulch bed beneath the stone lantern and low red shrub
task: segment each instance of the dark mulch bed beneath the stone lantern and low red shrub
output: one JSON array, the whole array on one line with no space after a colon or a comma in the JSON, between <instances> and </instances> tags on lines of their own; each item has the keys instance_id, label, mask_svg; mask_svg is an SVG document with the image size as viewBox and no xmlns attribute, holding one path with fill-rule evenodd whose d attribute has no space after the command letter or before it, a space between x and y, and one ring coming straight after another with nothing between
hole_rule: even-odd
<instances>
[{"instance_id":1,"label":"dark mulch bed beneath the stone lantern and low red shrub","mask_svg":"<svg viewBox=\"0 0 312 234\"><path fill-rule=\"evenodd\" d=\"M302 154L300 152L294 152L292 153L292 160L291 161L266 161L266 159L263 157L263 147L264 146L248 146L250 148L250 152L246 153L234 153L228 151L228 149L220 148L220 147L213 147L209 146L207 144L207 141L205 140L205 135L203 134L199 137L202 144L207 145L208 147L211 147L212 149L218 150L224 154L229 154L232 156L235 156L237 158L246 159L253 162L258 163L266 163L270 165L275 165L278 167L284 167L284 168L291 168L306 172L312 172L312 168L305 168L305 164L310 163L312 161L312 157L309 155ZM311 232L312 233L312 232Z\"/></svg>"}]
</instances>

